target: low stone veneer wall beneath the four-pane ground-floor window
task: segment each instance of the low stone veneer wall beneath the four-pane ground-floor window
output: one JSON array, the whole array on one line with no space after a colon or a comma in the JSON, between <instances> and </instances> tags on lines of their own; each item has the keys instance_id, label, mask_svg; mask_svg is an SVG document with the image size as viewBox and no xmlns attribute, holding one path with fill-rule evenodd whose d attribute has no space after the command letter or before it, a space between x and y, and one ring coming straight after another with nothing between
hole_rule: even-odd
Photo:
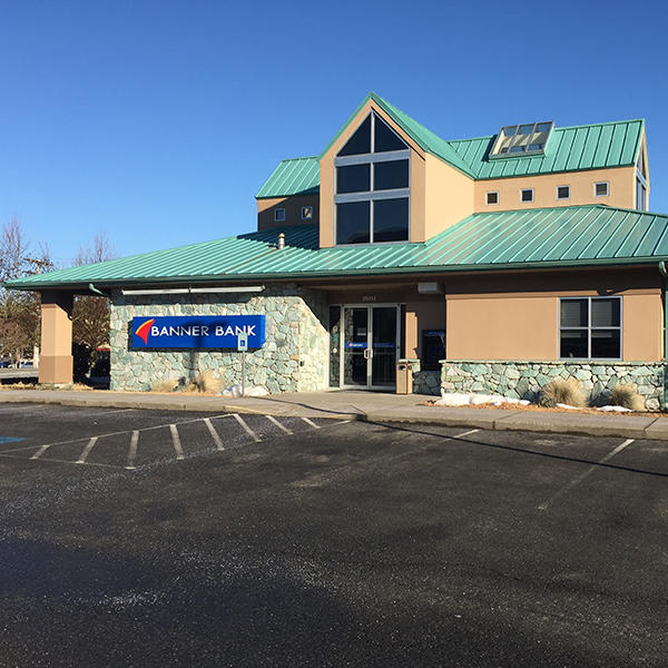
<instances>
[{"instance_id":1,"label":"low stone veneer wall beneath the four-pane ground-floor window","mask_svg":"<svg viewBox=\"0 0 668 668\"><path fill-rule=\"evenodd\" d=\"M574 376L595 405L603 405L618 383L632 383L648 410L664 404L664 362L441 361L442 392L480 392L537 401L552 379Z\"/></svg>"}]
</instances>

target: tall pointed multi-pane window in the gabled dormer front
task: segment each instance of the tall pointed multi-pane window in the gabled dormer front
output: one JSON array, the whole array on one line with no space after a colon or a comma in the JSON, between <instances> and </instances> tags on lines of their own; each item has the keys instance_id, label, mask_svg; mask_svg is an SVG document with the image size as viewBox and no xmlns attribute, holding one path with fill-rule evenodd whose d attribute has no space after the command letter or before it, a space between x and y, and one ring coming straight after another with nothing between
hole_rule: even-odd
<instances>
[{"instance_id":1,"label":"tall pointed multi-pane window in the gabled dormer front","mask_svg":"<svg viewBox=\"0 0 668 668\"><path fill-rule=\"evenodd\" d=\"M407 242L411 151L370 114L334 158L336 244Z\"/></svg>"}]
</instances>

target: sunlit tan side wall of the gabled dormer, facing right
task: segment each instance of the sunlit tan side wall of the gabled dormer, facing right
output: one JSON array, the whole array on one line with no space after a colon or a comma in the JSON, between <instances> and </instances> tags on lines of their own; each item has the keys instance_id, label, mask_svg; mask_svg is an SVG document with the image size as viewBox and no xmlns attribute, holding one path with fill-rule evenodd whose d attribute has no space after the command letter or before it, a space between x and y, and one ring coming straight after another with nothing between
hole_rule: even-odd
<instances>
[{"instance_id":1,"label":"sunlit tan side wall of the gabled dormer, facing right","mask_svg":"<svg viewBox=\"0 0 668 668\"><path fill-rule=\"evenodd\" d=\"M425 242L473 213L475 181L454 167L428 154L425 157Z\"/></svg>"}]
</instances>

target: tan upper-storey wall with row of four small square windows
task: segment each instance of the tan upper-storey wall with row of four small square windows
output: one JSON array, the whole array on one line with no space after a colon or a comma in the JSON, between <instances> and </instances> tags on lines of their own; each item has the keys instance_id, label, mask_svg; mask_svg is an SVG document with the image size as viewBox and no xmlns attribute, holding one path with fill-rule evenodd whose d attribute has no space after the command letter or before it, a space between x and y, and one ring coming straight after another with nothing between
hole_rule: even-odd
<instances>
[{"instance_id":1,"label":"tan upper-storey wall with row of four small square windows","mask_svg":"<svg viewBox=\"0 0 668 668\"><path fill-rule=\"evenodd\" d=\"M608 181L609 195L595 197L593 184ZM557 186L570 186L570 199L557 199ZM533 202L520 202L520 190L533 188ZM475 181L474 210L498 212L531 209L553 206L573 206L581 204L605 204L633 208L636 206L636 168L617 167L613 169L591 169L588 171L567 171L543 176L519 176ZM499 204L487 204L487 194L499 193Z\"/></svg>"}]
</instances>

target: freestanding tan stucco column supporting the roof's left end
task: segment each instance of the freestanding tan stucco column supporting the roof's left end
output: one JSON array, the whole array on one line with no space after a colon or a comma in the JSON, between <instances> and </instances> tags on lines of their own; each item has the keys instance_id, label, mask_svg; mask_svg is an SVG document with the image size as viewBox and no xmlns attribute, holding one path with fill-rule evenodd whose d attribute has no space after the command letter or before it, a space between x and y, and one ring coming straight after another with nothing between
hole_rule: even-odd
<instances>
[{"instance_id":1,"label":"freestanding tan stucco column supporting the roof's left end","mask_svg":"<svg viewBox=\"0 0 668 668\"><path fill-rule=\"evenodd\" d=\"M72 302L71 293L41 294L40 383L72 382Z\"/></svg>"}]
</instances>

